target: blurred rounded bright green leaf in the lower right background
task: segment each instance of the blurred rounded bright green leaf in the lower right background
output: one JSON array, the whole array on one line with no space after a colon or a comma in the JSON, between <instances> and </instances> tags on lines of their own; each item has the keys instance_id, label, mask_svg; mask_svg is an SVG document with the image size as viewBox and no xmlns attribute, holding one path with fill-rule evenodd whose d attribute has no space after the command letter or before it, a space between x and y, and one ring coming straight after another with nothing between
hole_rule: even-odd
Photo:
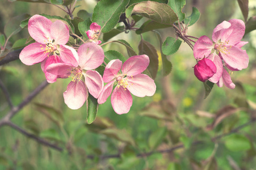
<instances>
[{"instance_id":1,"label":"blurred rounded bright green leaf in the lower right background","mask_svg":"<svg viewBox=\"0 0 256 170\"><path fill-rule=\"evenodd\" d=\"M247 151L251 148L250 141L244 135L233 134L225 139L225 146L233 152Z\"/></svg>"}]
</instances>

